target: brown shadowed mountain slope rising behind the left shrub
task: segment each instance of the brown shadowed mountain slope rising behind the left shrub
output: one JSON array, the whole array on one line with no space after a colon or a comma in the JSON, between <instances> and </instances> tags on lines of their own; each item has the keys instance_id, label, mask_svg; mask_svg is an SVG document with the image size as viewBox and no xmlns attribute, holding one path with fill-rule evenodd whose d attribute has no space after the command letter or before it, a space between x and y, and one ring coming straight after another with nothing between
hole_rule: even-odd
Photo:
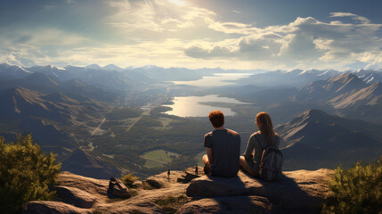
<instances>
[{"instance_id":1,"label":"brown shadowed mountain slope rising behind the left shrub","mask_svg":"<svg viewBox=\"0 0 382 214\"><path fill-rule=\"evenodd\" d=\"M45 95L23 87L1 91L0 100L0 135L15 139L18 134L32 133L44 151L62 157L90 135L88 130L102 122L106 111L94 100Z\"/></svg>"}]
</instances>

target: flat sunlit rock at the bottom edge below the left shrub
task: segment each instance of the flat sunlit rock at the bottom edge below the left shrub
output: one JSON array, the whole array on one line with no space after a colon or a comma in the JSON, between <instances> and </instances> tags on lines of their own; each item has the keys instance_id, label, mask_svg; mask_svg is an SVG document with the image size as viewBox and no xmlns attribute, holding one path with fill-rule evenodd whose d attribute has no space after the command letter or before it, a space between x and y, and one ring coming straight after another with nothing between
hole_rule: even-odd
<instances>
[{"instance_id":1,"label":"flat sunlit rock at the bottom edge below the left shrub","mask_svg":"<svg viewBox=\"0 0 382 214\"><path fill-rule=\"evenodd\" d=\"M92 214L90 210L77 208L63 202L31 201L23 210L23 214Z\"/></svg>"}]
</instances>

